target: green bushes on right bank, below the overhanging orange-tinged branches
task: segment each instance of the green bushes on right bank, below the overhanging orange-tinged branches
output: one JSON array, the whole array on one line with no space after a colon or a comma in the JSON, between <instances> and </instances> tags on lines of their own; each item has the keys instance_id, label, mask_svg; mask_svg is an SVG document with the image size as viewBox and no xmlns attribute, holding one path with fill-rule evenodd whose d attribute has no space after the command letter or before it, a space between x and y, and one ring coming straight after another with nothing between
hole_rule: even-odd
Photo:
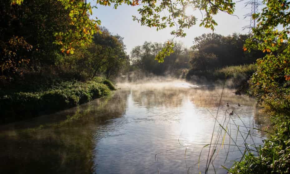
<instances>
[{"instance_id":1,"label":"green bushes on right bank, below the overhanging orange-tinged branches","mask_svg":"<svg viewBox=\"0 0 290 174\"><path fill-rule=\"evenodd\" d=\"M257 60L250 80L251 94L270 116L273 130L258 155L245 155L232 173L290 173L290 56L267 55Z\"/></svg>"}]
</instances>

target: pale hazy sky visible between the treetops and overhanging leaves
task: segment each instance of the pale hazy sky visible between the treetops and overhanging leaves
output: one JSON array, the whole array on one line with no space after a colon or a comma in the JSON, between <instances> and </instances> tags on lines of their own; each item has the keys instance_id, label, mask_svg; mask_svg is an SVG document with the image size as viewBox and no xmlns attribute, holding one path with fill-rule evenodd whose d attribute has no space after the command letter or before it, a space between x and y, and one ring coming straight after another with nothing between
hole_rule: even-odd
<instances>
[{"instance_id":1,"label":"pale hazy sky visible between the treetops and overhanging leaves","mask_svg":"<svg viewBox=\"0 0 290 174\"><path fill-rule=\"evenodd\" d=\"M245 1L238 2L235 7L234 14L231 16L224 12L220 12L214 17L215 21L218 23L218 26L215 27L215 32L222 35L229 35L234 32L246 33L248 29L242 30L242 27L249 25L249 19L244 19L244 14L249 13L249 7L244 7ZM92 2L95 3L95 2ZM94 4L93 4L94 5ZM161 31L156 31L156 28L149 28L146 26L141 26L137 21L133 21L132 15L138 16L138 6L119 6L118 9L114 9L113 6L101 6L98 5L98 9L93 10L92 18L98 17L101 20L101 25L109 29L113 34L118 34L124 37L124 43L127 46L127 53L134 46L142 45L145 41L152 42L165 42L168 39L173 38L170 35L170 31L174 28L166 28ZM204 27L199 27L201 14L199 11L190 11L198 18L197 24L191 29L186 30L185 38L175 38L175 41L182 41L186 47L192 45L194 37L200 36L203 33L212 32L210 29L205 29Z\"/></svg>"}]
</instances>

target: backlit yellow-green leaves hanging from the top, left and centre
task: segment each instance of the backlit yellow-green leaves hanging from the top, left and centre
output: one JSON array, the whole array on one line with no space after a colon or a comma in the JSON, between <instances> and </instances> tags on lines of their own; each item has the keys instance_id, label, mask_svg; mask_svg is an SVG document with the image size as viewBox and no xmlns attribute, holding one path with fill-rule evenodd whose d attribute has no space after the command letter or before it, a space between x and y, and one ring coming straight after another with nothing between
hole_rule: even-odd
<instances>
[{"instance_id":1,"label":"backlit yellow-green leaves hanging from the top, left and centre","mask_svg":"<svg viewBox=\"0 0 290 174\"><path fill-rule=\"evenodd\" d=\"M68 16L70 17L70 26L73 29L67 31L55 32L56 41L54 43L62 46L62 51L66 50L67 53L73 51L71 43L80 42L81 44L87 43L91 40L92 35L98 31L97 24L100 21L89 20L87 12L92 13L90 4L86 4L83 1L70 1L70 0L58 0L65 9L71 9ZM12 5L22 5L26 1L24 0L11 0ZM191 7L192 9L198 9L199 11L205 13L201 20L200 26L210 28L214 30L214 26L217 25L213 16L219 11L227 12L232 14L234 12L235 3L231 0L225 1L190 1L181 0L176 2L171 2L167 0L161 0L157 3L156 0L97 0L96 4L110 6L114 4L114 8L119 5L127 4L131 6L140 5L138 9L139 15L141 17L133 16L133 20L138 21L141 25L146 25L148 27L156 27L157 30L164 29L167 26L176 26L176 30L171 31L172 35L178 37L186 36L184 32L185 28L190 28L196 24L197 18L193 15L187 15L185 13L186 8ZM169 12L168 15L161 12ZM157 54L156 59L159 62L163 61L163 58L172 53L172 45L170 42L168 45L164 46L162 51Z\"/></svg>"}]
</instances>

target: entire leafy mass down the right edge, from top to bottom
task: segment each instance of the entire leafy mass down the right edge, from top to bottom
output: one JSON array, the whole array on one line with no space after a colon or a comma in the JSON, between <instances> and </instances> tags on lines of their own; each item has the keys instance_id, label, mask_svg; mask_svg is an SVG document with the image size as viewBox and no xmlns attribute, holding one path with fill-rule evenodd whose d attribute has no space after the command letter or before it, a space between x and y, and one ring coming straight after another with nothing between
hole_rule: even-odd
<instances>
[{"instance_id":1,"label":"entire leafy mass down the right edge, from top to bottom","mask_svg":"<svg viewBox=\"0 0 290 174\"><path fill-rule=\"evenodd\" d=\"M253 15L258 25L252 29L253 36L247 40L244 50L259 49L268 53L257 60L257 71L250 85L252 94L273 121L273 132L259 148L258 156L249 153L242 161L235 162L232 173L290 172L290 2L265 0L264 4L262 12Z\"/></svg>"}]
</instances>

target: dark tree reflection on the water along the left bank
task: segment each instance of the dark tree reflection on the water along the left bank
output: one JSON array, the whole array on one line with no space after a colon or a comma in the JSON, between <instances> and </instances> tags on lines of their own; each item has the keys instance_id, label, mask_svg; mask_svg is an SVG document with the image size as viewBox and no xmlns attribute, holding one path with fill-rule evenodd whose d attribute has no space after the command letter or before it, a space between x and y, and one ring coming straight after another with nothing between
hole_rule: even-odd
<instances>
[{"instance_id":1,"label":"dark tree reflection on the water along the left bank","mask_svg":"<svg viewBox=\"0 0 290 174\"><path fill-rule=\"evenodd\" d=\"M73 113L59 113L60 121L2 132L0 173L93 173L93 132L104 120L124 114L127 96L116 92Z\"/></svg>"}]
</instances>

